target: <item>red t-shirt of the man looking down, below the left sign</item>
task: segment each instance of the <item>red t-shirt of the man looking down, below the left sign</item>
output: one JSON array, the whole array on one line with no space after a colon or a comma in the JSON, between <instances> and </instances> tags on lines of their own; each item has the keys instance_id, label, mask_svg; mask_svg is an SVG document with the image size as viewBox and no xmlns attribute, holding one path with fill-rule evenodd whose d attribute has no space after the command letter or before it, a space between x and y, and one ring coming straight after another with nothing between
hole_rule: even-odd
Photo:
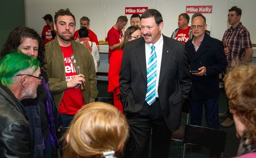
<instances>
[{"instance_id":1,"label":"red t-shirt of the man looking down, below the left sign","mask_svg":"<svg viewBox=\"0 0 256 158\"><path fill-rule=\"evenodd\" d=\"M123 32L122 30L116 30L114 27L112 27L110 29L110 31L108 32L108 43L109 43L109 46L113 46L114 44L116 43L120 43L123 41ZM109 49L109 59L110 59L110 56L113 52L115 52L117 49L114 49L114 50L110 50Z\"/></svg>"}]
</instances>

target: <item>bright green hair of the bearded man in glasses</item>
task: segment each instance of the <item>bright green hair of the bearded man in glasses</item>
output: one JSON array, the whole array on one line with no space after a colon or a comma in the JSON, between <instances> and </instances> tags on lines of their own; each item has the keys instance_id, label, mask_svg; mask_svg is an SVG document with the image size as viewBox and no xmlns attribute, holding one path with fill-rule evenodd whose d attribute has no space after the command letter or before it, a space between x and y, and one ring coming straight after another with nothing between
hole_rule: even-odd
<instances>
[{"instance_id":1,"label":"bright green hair of the bearded man in glasses","mask_svg":"<svg viewBox=\"0 0 256 158\"><path fill-rule=\"evenodd\" d=\"M35 72L39 60L23 53L14 52L6 55L0 63L0 82L7 87L14 84L13 77L18 72L31 68Z\"/></svg>"}]
</instances>

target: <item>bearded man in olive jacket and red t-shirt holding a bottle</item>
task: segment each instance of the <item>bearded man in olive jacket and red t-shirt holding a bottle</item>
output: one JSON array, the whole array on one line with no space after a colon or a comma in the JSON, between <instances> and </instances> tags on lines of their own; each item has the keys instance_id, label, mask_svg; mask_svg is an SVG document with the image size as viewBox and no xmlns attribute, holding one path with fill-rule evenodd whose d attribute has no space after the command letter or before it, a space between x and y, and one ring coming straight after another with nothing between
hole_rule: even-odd
<instances>
[{"instance_id":1,"label":"bearded man in olive jacket and red t-shirt holding a bottle","mask_svg":"<svg viewBox=\"0 0 256 158\"><path fill-rule=\"evenodd\" d=\"M60 9L54 22L57 35L46 44L46 64L42 69L48 74L50 90L62 119L61 126L67 127L83 105L95 101L97 79L90 51L71 40L75 32L74 15L69 9ZM86 86L85 91L79 91L81 84Z\"/></svg>"}]
</instances>

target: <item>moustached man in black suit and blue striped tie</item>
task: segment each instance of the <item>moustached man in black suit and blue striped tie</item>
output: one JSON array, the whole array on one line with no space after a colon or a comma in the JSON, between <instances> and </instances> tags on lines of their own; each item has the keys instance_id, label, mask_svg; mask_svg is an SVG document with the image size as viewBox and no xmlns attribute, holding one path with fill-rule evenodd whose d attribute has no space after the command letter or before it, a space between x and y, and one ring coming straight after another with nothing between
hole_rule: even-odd
<instances>
[{"instance_id":1,"label":"moustached man in black suit and blue striped tie","mask_svg":"<svg viewBox=\"0 0 256 158\"><path fill-rule=\"evenodd\" d=\"M131 156L168 157L172 131L191 86L184 44L161 34L163 19L155 9L141 16L143 38L126 44L120 71L120 94L131 128Z\"/></svg>"}]
</instances>

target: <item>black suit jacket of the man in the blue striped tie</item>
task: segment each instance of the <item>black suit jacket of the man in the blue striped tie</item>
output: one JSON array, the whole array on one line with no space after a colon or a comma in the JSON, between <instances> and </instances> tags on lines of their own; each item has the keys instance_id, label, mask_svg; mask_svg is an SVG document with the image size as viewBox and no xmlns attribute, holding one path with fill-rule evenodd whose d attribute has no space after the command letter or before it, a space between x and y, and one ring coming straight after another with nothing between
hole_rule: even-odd
<instances>
[{"instance_id":1,"label":"black suit jacket of the man in the blue striped tie","mask_svg":"<svg viewBox=\"0 0 256 158\"><path fill-rule=\"evenodd\" d=\"M126 43L119 84L124 112L136 114L143 107L147 90L144 38ZM190 87L184 44L163 36L158 95L163 118L170 131L179 128L182 104Z\"/></svg>"}]
</instances>

